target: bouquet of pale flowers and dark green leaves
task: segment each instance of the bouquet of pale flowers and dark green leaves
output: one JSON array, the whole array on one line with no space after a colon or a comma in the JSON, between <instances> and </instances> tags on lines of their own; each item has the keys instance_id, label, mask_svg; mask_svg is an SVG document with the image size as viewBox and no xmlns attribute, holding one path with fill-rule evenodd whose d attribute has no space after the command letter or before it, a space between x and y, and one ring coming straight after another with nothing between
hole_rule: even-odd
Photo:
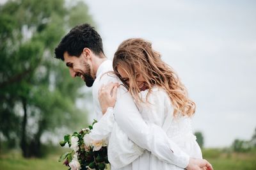
<instances>
[{"instance_id":1,"label":"bouquet of pale flowers and dark green leaves","mask_svg":"<svg viewBox=\"0 0 256 170\"><path fill-rule=\"evenodd\" d=\"M108 150L106 141L93 141L89 134L94 123L88 128L83 128L79 133L74 132L72 135L64 135L64 140L60 141L63 147L66 143L72 151L61 155L59 162L63 161L68 170L87 170L87 169L105 169L109 166Z\"/></svg>"}]
</instances>

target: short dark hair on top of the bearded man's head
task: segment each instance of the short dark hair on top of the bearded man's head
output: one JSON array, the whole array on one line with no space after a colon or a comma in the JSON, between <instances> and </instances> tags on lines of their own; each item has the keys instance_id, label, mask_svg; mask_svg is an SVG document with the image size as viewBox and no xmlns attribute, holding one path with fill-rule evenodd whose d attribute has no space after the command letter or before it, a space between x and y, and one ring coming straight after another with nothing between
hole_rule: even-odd
<instances>
[{"instance_id":1,"label":"short dark hair on top of the bearded man's head","mask_svg":"<svg viewBox=\"0 0 256 170\"><path fill-rule=\"evenodd\" d=\"M92 50L93 53L97 55L100 55L100 53L104 54L102 39L97 31L95 31L94 27L89 24L82 24L72 28L70 32L62 38L54 52L56 58L64 61L64 52L67 51L70 56L79 57L84 48Z\"/></svg>"}]
</instances>

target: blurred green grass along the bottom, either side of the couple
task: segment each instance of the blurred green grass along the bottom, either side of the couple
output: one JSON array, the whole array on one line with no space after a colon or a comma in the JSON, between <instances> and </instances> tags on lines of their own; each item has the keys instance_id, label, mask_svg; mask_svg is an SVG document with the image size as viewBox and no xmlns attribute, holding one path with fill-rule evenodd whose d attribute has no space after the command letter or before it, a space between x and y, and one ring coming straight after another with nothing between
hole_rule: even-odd
<instances>
[{"instance_id":1,"label":"blurred green grass along the bottom, either side of the couple","mask_svg":"<svg viewBox=\"0 0 256 170\"><path fill-rule=\"evenodd\" d=\"M256 169L256 151L231 153L220 149L203 150L204 158L211 162L216 170L253 170ZM67 169L58 162L58 154L49 154L45 158L22 158L19 151L9 151L0 155L1 170L61 170Z\"/></svg>"}]
</instances>

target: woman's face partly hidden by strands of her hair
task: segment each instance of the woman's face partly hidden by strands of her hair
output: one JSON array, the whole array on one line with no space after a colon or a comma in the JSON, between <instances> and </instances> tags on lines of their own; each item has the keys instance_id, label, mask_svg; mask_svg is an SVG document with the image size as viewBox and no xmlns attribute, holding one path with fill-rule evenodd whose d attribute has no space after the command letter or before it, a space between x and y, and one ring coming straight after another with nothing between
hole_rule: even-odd
<instances>
[{"instance_id":1,"label":"woman's face partly hidden by strands of her hair","mask_svg":"<svg viewBox=\"0 0 256 170\"><path fill-rule=\"evenodd\" d=\"M129 75L125 72L125 70L121 66L117 66L116 70L120 74L120 77L122 77L122 80L127 84L127 86L129 86ZM147 89L145 79L140 73L136 74L136 80L134 82L137 84L140 91Z\"/></svg>"}]
</instances>

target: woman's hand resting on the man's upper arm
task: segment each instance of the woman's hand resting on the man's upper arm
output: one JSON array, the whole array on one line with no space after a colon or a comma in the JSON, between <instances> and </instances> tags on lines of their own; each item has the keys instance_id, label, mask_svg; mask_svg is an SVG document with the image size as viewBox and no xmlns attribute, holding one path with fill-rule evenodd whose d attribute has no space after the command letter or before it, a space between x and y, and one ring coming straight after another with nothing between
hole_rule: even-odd
<instances>
[{"instance_id":1,"label":"woman's hand resting on the man's upper arm","mask_svg":"<svg viewBox=\"0 0 256 170\"><path fill-rule=\"evenodd\" d=\"M102 113L105 114L108 107L114 107L116 104L116 91L118 83L110 82L109 84L102 85L99 89L98 98Z\"/></svg>"}]
</instances>

